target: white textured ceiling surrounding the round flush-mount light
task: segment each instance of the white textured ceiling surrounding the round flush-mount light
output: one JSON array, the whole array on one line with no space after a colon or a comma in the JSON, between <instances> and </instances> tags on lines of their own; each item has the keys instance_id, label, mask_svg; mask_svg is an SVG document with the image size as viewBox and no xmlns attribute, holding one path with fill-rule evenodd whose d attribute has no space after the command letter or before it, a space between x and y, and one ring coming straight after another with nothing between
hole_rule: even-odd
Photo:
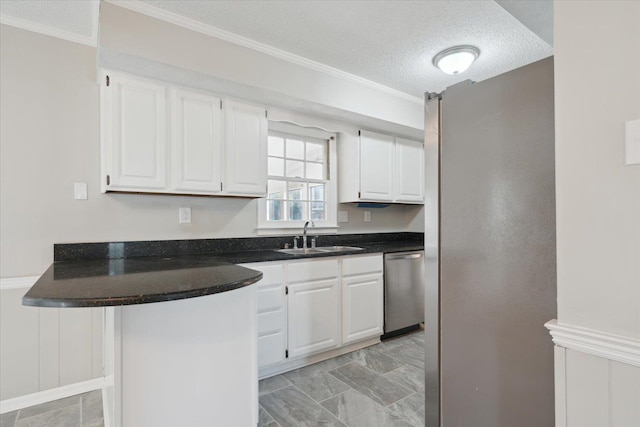
<instances>
[{"instance_id":1,"label":"white textured ceiling surrounding the round flush-mount light","mask_svg":"<svg viewBox=\"0 0 640 427\"><path fill-rule=\"evenodd\" d=\"M532 31L540 26L536 18L544 15L532 16L529 29L514 17L518 13L512 15L495 1L144 3L418 97L462 80L485 80L553 54ZM527 7L521 5L516 12L526 18L523 9ZM459 44L481 51L467 72L448 76L432 65L436 53Z\"/></svg>"}]
</instances>

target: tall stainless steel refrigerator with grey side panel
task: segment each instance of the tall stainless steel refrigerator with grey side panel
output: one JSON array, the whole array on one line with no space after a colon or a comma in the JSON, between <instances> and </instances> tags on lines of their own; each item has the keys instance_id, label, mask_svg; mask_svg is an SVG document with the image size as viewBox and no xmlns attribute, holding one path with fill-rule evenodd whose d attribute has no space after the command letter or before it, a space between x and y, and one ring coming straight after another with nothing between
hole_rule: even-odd
<instances>
[{"instance_id":1,"label":"tall stainless steel refrigerator with grey side panel","mask_svg":"<svg viewBox=\"0 0 640 427\"><path fill-rule=\"evenodd\" d=\"M552 426L553 58L426 98L426 425Z\"/></svg>"}]
</instances>

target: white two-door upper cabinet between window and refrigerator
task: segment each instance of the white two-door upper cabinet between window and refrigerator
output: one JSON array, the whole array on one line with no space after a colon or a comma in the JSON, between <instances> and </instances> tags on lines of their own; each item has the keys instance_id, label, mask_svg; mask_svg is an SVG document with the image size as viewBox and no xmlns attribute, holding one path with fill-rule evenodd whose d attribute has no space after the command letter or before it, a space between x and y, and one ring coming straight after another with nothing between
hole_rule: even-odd
<instances>
[{"instance_id":1,"label":"white two-door upper cabinet between window and refrigerator","mask_svg":"<svg viewBox=\"0 0 640 427\"><path fill-rule=\"evenodd\" d=\"M422 142L360 131L338 141L340 203L424 203Z\"/></svg>"}]
</instances>

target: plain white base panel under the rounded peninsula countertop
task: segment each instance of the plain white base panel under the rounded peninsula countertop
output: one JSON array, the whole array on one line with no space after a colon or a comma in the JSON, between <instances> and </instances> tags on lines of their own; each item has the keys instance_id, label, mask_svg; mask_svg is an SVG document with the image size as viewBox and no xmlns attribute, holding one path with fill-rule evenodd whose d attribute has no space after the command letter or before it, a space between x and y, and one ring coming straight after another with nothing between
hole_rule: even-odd
<instances>
[{"instance_id":1,"label":"plain white base panel under the rounded peninsula countertop","mask_svg":"<svg viewBox=\"0 0 640 427\"><path fill-rule=\"evenodd\" d=\"M113 426L257 424L255 286L116 307L114 324Z\"/></svg>"}]
</instances>

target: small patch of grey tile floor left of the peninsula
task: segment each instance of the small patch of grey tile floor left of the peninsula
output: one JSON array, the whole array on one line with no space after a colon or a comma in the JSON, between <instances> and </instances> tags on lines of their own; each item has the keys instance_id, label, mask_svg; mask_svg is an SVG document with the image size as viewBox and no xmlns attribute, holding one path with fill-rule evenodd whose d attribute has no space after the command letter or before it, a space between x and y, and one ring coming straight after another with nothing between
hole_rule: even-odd
<instances>
[{"instance_id":1,"label":"small patch of grey tile floor left of the peninsula","mask_svg":"<svg viewBox=\"0 0 640 427\"><path fill-rule=\"evenodd\" d=\"M0 415L0 427L103 427L100 390Z\"/></svg>"}]
</instances>

